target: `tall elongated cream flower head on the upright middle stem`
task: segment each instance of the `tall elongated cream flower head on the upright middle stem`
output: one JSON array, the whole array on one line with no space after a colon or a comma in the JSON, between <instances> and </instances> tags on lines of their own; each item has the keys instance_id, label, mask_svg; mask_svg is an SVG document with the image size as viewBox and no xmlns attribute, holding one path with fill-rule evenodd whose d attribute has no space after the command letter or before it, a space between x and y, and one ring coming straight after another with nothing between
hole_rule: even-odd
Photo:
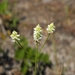
<instances>
[{"instance_id":1,"label":"tall elongated cream flower head on the upright middle stem","mask_svg":"<svg viewBox=\"0 0 75 75\"><path fill-rule=\"evenodd\" d=\"M35 28L34 28L34 33L33 33L33 37L34 40L36 42L39 42L42 39L42 29L40 27L40 25L38 24Z\"/></svg>"}]
</instances>

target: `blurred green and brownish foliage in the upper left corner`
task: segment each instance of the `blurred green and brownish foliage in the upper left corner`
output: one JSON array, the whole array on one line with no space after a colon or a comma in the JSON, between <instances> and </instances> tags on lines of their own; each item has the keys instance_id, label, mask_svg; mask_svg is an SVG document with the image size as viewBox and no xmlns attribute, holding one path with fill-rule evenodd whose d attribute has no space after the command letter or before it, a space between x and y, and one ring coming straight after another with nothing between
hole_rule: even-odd
<instances>
[{"instance_id":1,"label":"blurred green and brownish foliage in the upper left corner","mask_svg":"<svg viewBox=\"0 0 75 75\"><path fill-rule=\"evenodd\" d=\"M12 12L9 10L9 6L10 4L8 3L8 0L3 0L0 3L0 15L4 20L3 22L5 23L6 28L12 30L17 27L18 17L16 14L12 14Z\"/></svg>"}]
</instances>

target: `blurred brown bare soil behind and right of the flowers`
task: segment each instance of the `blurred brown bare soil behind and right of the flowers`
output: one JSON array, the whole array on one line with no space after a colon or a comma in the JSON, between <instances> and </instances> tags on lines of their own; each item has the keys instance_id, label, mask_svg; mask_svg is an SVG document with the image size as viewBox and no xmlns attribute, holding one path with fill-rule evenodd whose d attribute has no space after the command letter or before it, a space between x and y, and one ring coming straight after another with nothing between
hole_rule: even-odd
<instances>
[{"instance_id":1,"label":"blurred brown bare soil behind and right of the flowers","mask_svg":"<svg viewBox=\"0 0 75 75\"><path fill-rule=\"evenodd\" d=\"M49 54L53 64L51 69L46 68L46 75L61 73L63 68L65 68L64 75L75 75L75 0L9 0L9 2L11 7L15 2L12 12L17 13L19 17L18 31L28 39L29 45L32 47L35 47L33 28L37 24L41 25L42 45L47 36L45 30L47 25L54 22L56 31L51 35L42 51ZM8 38L3 43L2 47L5 50L9 40ZM13 49L12 46L10 47ZM13 57L14 51L13 55L10 53L12 54L12 52L9 51L9 56Z\"/></svg>"}]
</instances>

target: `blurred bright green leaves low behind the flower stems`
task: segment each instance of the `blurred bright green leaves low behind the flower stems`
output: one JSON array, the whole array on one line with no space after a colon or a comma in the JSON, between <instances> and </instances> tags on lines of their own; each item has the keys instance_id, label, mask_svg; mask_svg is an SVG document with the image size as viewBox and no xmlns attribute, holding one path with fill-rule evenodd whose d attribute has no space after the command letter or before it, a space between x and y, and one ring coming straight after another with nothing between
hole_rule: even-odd
<instances>
[{"instance_id":1,"label":"blurred bright green leaves low behind the flower stems","mask_svg":"<svg viewBox=\"0 0 75 75\"><path fill-rule=\"evenodd\" d=\"M21 66L21 71L24 74L26 74L28 69L32 67L32 65L35 63L35 56L36 56L37 49L29 47L27 39L24 37L21 37L20 43L24 48L20 48L20 46L17 46L17 44L15 44L15 49L16 49L15 59L23 61ZM26 51L28 53L26 53ZM38 61L37 61L38 63L39 62L50 63L49 56L47 54L43 54L43 53L38 53L38 54L39 54Z\"/></svg>"}]
</instances>

